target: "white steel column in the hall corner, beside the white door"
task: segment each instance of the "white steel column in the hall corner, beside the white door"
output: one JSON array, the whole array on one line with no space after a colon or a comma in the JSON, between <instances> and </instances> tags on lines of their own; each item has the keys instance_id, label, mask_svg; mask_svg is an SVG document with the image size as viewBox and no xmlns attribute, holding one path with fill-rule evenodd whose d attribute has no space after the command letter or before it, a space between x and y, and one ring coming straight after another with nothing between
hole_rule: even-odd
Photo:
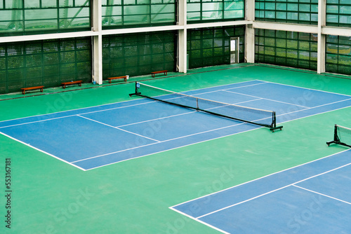
<instances>
[{"instance_id":1,"label":"white steel column in the hall corner, beside the white door","mask_svg":"<svg viewBox=\"0 0 351 234\"><path fill-rule=\"evenodd\" d=\"M255 0L246 0L245 17L251 22L255 20ZM252 24L246 25L245 58L246 62L255 62L255 29Z\"/></svg>"}]
</instances>

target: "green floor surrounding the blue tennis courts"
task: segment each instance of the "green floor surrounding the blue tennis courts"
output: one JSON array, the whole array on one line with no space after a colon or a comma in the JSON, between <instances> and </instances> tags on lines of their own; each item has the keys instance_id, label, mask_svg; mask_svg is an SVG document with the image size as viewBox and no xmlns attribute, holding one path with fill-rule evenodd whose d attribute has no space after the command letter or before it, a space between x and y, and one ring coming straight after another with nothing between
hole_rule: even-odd
<instances>
[{"instance_id":1,"label":"green floor surrounding the blue tennis courts","mask_svg":"<svg viewBox=\"0 0 351 234\"><path fill-rule=\"evenodd\" d=\"M347 76L264 64L193 69L147 83L185 91L253 79L351 95ZM126 101L133 85L1 95L0 121ZM13 179L11 230L0 220L0 233L218 233L168 207L345 150L325 142L335 123L350 127L350 113L350 107L321 113L284 123L279 132L260 128L87 172L0 135L0 194L5 158L11 158ZM5 203L1 195L2 219Z\"/></svg>"}]
</instances>

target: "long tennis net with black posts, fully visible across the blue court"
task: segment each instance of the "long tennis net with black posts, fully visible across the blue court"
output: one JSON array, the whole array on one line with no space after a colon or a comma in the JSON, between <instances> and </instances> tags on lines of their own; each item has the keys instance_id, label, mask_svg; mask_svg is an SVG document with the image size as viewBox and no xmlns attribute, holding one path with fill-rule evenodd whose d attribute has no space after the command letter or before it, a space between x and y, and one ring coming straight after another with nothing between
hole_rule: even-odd
<instances>
[{"instance_id":1,"label":"long tennis net with black posts, fully visible across the blue court","mask_svg":"<svg viewBox=\"0 0 351 234\"><path fill-rule=\"evenodd\" d=\"M230 118L235 121L260 125L270 128L270 130L273 132L274 130L282 130L283 128L283 126L277 127L274 111L227 104L224 102L216 102L209 99L185 95L180 92L164 90L162 88L157 88L139 82L135 83L135 93L130 94L130 96L132 95L210 113L215 116Z\"/></svg>"}]
</instances>

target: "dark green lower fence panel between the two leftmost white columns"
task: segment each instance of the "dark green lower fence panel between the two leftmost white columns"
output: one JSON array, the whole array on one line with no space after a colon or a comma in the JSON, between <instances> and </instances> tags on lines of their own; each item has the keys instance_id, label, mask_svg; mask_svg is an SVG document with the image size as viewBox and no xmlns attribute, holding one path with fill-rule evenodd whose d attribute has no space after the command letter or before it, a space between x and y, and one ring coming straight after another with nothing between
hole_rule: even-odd
<instances>
[{"instance_id":1,"label":"dark green lower fence panel between the two leftmost white columns","mask_svg":"<svg viewBox=\"0 0 351 234\"><path fill-rule=\"evenodd\" d=\"M140 76L176 69L176 32L119 34L102 38L102 76Z\"/></svg>"}]
</instances>

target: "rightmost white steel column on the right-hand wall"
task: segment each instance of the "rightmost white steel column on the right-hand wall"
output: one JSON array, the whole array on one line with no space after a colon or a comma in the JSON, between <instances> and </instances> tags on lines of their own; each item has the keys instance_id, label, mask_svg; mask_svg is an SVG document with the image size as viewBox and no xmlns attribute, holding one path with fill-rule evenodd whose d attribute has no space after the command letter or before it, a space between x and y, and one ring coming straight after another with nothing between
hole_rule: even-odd
<instances>
[{"instance_id":1,"label":"rightmost white steel column on the right-hand wall","mask_svg":"<svg viewBox=\"0 0 351 234\"><path fill-rule=\"evenodd\" d=\"M326 35L322 34L322 27L324 26L326 26L326 0L319 0L317 73L323 73L326 71Z\"/></svg>"}]
</instances>

